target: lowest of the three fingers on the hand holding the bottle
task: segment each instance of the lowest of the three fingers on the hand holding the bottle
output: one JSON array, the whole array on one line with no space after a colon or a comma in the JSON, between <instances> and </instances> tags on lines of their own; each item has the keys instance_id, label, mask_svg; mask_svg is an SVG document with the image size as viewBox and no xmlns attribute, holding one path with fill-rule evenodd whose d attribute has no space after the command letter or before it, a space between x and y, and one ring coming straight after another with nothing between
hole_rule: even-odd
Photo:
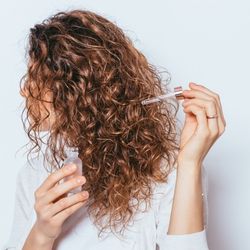
<instances>
[{"instance_id":1,"label":"lowest of the three fingers on the hand holding the bottle","mask_svg":"<svg viewBox=\"0 0 250 250\"><path fill-rule=\"evenodd\" d=\"M86 201L89 197L89 193L87 191L82 191L77 194L62 198L61 200L57 201L53 205L50 206L48 209L48 216L53 217L57 213L61 212L68 207L75 205L78 202Z\"/></svg>"}]
</instances>

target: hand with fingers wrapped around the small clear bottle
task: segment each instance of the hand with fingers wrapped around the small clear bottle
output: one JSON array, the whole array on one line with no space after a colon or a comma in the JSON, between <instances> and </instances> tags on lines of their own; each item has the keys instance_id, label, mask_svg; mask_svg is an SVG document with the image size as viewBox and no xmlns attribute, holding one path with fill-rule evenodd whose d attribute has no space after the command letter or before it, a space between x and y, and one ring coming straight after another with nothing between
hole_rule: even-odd
<instances>
[{"instance_id":1,"label":"hand with fingers wrapped around the small clear bottle","mask_svg":"<svg viewBox=\"0 0 250 250\"><path fill-rule=\"evenodd\" d=\"M76 169L75 164L65 164L61 169L50 174L35 191L34 209L37 219L33 230L45 241L54 241L61 233L63 222L88 199L87 191L67 197L67 192L86 182L84 176L78 175L58 184L61 179L73 174Z\"/></svg>"}]
</instances>

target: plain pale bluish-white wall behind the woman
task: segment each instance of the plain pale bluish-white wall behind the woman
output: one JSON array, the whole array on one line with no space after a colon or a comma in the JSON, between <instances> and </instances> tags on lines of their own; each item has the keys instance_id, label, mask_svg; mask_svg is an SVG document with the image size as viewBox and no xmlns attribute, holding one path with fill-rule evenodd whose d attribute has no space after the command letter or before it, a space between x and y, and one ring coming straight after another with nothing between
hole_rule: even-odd
<instances>
[{"instance_id":1,"label":"plain pale bluish-white wall behind the woman","mask_svg":"<svg viewBox=\"0 0 250 250\"><path fill-rule=\"evenodd\" d=\"M69 4L70 2L70 4ZM212 250L250 249L250 2L4 1L0 15L0 247L9 237L15 178L27 142L19 105L29 28L59 10L87 8L115 21L151 63L167 68L171 86L202 83L221 96L226 132L205 159L209 175L208 241ZM180 111L180 117L182 117Z\"/></svg>"}]
</instances>

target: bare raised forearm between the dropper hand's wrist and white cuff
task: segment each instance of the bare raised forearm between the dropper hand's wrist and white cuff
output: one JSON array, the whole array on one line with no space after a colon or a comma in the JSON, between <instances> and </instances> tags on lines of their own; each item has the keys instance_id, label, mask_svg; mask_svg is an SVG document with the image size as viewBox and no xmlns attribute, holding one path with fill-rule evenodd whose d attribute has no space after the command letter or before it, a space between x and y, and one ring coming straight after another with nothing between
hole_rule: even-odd
<instances>
[{"instance_id":1,"label":"bare raised forearm between the dropper hand's wrist and white cuff","mask_svg":"<svg viewBox=\"0 0 250 250\"><path fill-rule=\"evenodd\" d=\"M201 167L178 163L168 234L188 234L204 229Z\"/></svg>"}]
</instances>

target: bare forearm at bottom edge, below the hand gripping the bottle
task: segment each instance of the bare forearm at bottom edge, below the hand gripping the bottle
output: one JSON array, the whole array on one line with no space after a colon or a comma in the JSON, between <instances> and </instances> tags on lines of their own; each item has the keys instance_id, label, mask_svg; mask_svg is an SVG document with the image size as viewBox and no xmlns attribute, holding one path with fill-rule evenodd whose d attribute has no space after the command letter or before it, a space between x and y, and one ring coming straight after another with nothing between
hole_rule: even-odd
<instances>
[{"instance_id":1,"label":"bare forearm at bottom edge, below the hand gripping the bottle","mask_svg":"<svg viewBox=\"0 0 250 250\"><path fill-rule=\"evenodd\" d=\"M47 239L42 236L34 225L24 243L22 250L52 250L54 239Z\"/></svg>"}]
</instances>

